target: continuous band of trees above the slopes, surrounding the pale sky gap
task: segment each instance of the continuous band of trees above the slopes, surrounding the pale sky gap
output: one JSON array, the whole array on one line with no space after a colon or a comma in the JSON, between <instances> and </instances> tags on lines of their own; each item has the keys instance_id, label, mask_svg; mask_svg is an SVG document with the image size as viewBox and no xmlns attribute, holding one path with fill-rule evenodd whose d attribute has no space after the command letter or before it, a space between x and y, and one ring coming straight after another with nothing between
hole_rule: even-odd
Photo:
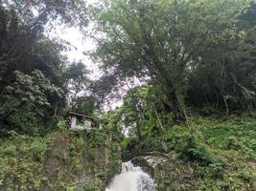
<instances>
[{"instance_id":1,"label":"continuous band of trees above the slopes, surrounding the pale sky gap","mask_svg":"<svg viewBox=\"0 0 256 191\"><path fill-rule=\"evenodd\" d=\"M1 1L1 131L26 132L35 123L46 130L68 110L93 114L115 97L124 98L120 121L139 138L151 117L157 121L151 128L163 128L165 115L187 123L191 108L203 115L250 113L256 104L255 5L251 0L106 0L90 7L82 0ZM91 57L104 73L99 80L88 77L83 63L61 54L68 43L46 37L52 21L83 32L91 22L87 29L97 42Z\"/></svg>"}]
</instances>

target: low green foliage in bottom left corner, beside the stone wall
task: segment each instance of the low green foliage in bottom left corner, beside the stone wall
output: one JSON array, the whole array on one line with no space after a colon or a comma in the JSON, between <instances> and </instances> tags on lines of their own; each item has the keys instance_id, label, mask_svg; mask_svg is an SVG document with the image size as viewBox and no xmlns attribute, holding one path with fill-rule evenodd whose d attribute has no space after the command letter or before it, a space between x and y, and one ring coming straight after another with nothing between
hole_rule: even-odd
<instances>
[{"instance_id":1,"label":"low green foliage in bottom left corner, beside the stone wall","mask_svg":"<svg viewBox=\"0 0 256 191\"><path fill-rule=\"evenodd\" d=\"M48 141L49 138L21 136L14 132L11 138L1 140L0 187L37 190Z\"/></svg>"}]
</instances>

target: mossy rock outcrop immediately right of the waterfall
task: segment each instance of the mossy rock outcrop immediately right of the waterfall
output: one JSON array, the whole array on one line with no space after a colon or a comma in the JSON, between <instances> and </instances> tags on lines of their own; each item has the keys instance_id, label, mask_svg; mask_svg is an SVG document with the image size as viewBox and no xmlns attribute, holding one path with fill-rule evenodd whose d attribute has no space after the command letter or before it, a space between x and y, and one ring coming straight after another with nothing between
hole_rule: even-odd
<instances>
[{"instance_id":1,"label":"mossy rock outcrop immediately right of the waterfall","mask_svg":"<svg viewBox=\"0 0 256 191\"><path fill-rule=\"evenodd\" d=\"M159 191L193 190L193 169L173 154L150 153L131 161L151 175Z\"/></svg>"}]
</instances>

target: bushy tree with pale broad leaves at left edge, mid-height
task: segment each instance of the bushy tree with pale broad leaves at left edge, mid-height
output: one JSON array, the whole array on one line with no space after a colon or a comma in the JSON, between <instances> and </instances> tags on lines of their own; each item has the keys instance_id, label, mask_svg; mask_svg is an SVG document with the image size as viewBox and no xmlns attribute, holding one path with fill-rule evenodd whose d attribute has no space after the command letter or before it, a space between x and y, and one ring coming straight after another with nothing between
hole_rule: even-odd
<instances>
[{"instance_id":1,"label":"bushy tree with pale broad leaves at left edge, mid-height","mask_svg":"<svg viewBox=\"0 0 256 191\"><path fill-rule=\"evenodd\" d=\"M51 114L52 100L53 97L61 99L63 90L38 70L31 75L19 71L14 74L15 81L5 88L0 99L1 133L12 129L27 134L40 133L38 130L45 124L50 125L55 117L56 114Z\"/></svg>"}]
</instances>

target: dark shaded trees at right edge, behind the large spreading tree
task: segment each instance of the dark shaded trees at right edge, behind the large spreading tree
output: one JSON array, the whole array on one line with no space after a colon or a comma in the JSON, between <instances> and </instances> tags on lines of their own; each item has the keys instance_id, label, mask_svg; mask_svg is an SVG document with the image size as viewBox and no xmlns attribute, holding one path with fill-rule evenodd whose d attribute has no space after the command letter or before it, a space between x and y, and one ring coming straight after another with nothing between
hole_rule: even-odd
<instances>
[{"instance_id":1,"label":"dark shaded trees at right edge, behind the large spreading tree","mask_svg":"<svg viewBox=\"0 0 256 191\"><path fill-rule=\"evenodd\" d=\"M212 112L224 110L226 115L255 107L255 8L251 4L239 16L236 28L225 33L225 41L208 47L211 54L202 54L190 70L188 104Z\"/></svg>"}]
</instances>

